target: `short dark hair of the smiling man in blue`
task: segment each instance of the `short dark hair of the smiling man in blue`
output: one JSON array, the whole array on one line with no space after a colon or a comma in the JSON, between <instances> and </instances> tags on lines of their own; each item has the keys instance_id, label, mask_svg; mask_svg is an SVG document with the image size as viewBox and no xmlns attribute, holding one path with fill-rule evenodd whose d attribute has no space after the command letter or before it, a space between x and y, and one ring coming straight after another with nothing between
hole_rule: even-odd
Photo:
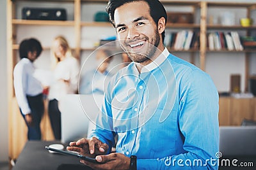
<instances>
[{"instance_id":1,"label":"short dark hair of the smiling man in blue","mask_svg":"<svg viewBox=\"0 0 256 170\"><path fill-rule=\"evenodd\" d=\"M164 9L163 4L160 3L160 1L158 1L158 0L109 0L108 6L106 7L106 11L108 12L109 20L111 21L111 23L114 26L115 26L114 13L115 13L116 8L122 6L123 4L132 3L135 1L145 1L146 3L148 3L148 6L150 8L150 15L153 18L153 20L157 26L158 26L158 20L161 17L165 18L165 24L166 24L166 21L167 21L166 10ZM164 32L165 31L162 32L163 42L164 42Z\"/></svg>"}]
</instances>

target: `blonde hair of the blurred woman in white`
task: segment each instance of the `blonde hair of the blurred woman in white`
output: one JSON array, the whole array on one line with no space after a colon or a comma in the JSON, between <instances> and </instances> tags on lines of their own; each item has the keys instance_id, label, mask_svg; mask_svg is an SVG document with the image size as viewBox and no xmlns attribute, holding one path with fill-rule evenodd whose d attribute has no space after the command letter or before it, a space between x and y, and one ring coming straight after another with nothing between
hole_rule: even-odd
<instances>
[{"instance_id":1,"label":"blonde hair of the blurred woman in white","mask_svg":"<svg viewBox=\"0 0 256 170\"><path fill-rule=\"evenodd\" d=\"M54 50L53 50L54 42L56 42L56 41L58 41L58 43L60 43L60 46L65 51L65 58L66 57L74 57L72 55L71 48L68 45L67 39L65 39L63 36L57 36L56 38L54 38L54 41L53 41L52 47L51 47L51 68L52 69L54 69L57 66L58 62L60 62L60 60L58 59L58 57L56 56L56 54L54 53Z\"/></svg>"}]
</instances>

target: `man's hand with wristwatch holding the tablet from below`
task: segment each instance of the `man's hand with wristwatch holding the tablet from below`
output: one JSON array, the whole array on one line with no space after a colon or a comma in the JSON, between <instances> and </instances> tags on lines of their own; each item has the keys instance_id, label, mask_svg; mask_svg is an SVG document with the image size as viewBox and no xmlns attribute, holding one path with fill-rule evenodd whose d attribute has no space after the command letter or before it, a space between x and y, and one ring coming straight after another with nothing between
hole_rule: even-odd
<instances>
[{"instance_id":1,"label":"man's hand with wristwatch holding the tablet from below","mask_svg":"<svg viewBox=\"0 0 256 170\"><path fill-rule=\"evenodd\" d=\"M129 169L130 166L130 158L126 157L122 153L110 153L109 155L99 155L96 157L96 160L101 164L89 162L86 160L80 160L81 163L86 166L92 167L92 169L114 169L114 170L125 170Z\"/></svg>"}]
</instances>

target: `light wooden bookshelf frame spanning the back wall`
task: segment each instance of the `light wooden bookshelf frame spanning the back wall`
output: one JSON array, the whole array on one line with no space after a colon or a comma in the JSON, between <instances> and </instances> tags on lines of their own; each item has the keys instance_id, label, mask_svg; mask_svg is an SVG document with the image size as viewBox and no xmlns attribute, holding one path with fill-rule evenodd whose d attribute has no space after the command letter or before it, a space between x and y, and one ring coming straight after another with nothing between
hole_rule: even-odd
<instances>
[{"instance_id":1,"label":"light wooden bookshelf frame spanning the back wall","mask_svg":"<svg viewBox=\"0 0 256 170\"><path fill-rule=\"evenodd\" d=\"M24 131L26 130L26 126L17 124L17 122L23 122L22 118L15 117L15 114L17 114L17 103L15 103L15 96L13 92L13 67L16 64L16 53L19 49L19 45L17 45L17 29L19 25L24 25L26 27L29 27L30 25L38 25L38 29L42 25L53 25L56 27L72 27L74 28L74 39L75 39L75 45L73 47L74 53L77 58L79 58L81 51L93 51L96 48L84 48L81 46L81 28L83 27L112 27L110 22L84 22L81 20L81 6L92 4L92 3L100 3L100 4L107 4L108 0L6 0L7 1L7 39L8 39L8 45L7 45L7 55L8 55L8 112L9 112L9 134L10 134L10 157L11 158L17 158L19 156L19 153L22 149L22 146L24 145L24 142L26 140L24 139ZM31 1L33 3L36 2L58 2L58 3L72 3L72 6L74 6L74 20L67 20L67 21L55 21L55 20L20 20L15 18L15 12L17 8L17 2L19 1ZM207 24L207 11L209 8L212 7L218 7L218 8L245 8L246 9L246 16L250 17L250 11L256 10L256 3L217 3L217 2L207 2L207 1L172 1L172 0L161 0L161 2L164 4L164 6L189 6L192 8L192 13L194 17L197 18L197 21L199 23L194 22L193 24L167 24L166 29L180 29L180 30L192 30L192 31L198 31L200 32L200 47L194 49L191 48L189 50L174 50L173 48L168 48L170 52L186 52L189 53L191 56L191 62L194 63L195 56L199 57L200 62L200 69L205 71L205 60L207 60L207 55L209 53L244 53L245 55L245 75L246 75L246 85L245 87L248 87L247 81L251 77L249 74L249 66L250 66L250 53L255 53L256 49L245 49L243 51L228 51L228 50L209 50L207 47L207 32L218 30L218 31L246 31L246 34L250 35L250 32L256 30L256 25L252 25L250 27L242 27L241 25L232 25L232 26L226 26L226 25L210 25ZM197 13L199 11L200 13ZM87 33L87 32L86 32ZM88 33L90 34L90 32ZM31 35L33 35L33 32L31 32ZM43 48L46 50L50 50L51 45L45 45ZM232 55L230 55L230 59L232 59ZM238 124L237 120L231 120L229 118L225 118L225 113L228 111L228 114L231 112L232 104L244 104L243 100L237 100L234 101L230 98L221 98L221 104L220 104L220 111L221 115L221 121L227 120L227 125L230 125L231 122L236 122L234 124ZM222 103L223 101L223 103ZM250 100L248 100L250 101ZM254 102L254 101L253 101ZM250 102L251 103L251 102ZM252 104L252 103L251 103ZM249 104L250 105L250 104ZM249 106L248 104L244 104L244 106ZM226 107L226 108L225 108ZM228 107L228 108L227 108ZM224 108L224 109L223 109ZM241 111L243 110L248 111L246 108L243 108L241 106ZM240 109L240 108L239 108ZM239 113L236 113L237 115ZM249 114L249 113L248 113ZM250 113L252 114L252 113ZM47 133L45 131L48 131L49 129L49 121L48 118L44 118L44 123L42 124L42 132L45 140L52 139L52 134ZM221 123L222 124L222 123ZM15 138L15 135L22 134L23 137L20 137L22 139L21 141L19 138ZM19 136L19 135L18 135ZM17 146L17 143L19 143L19 147Z\"/></svg>"}]
</instances>

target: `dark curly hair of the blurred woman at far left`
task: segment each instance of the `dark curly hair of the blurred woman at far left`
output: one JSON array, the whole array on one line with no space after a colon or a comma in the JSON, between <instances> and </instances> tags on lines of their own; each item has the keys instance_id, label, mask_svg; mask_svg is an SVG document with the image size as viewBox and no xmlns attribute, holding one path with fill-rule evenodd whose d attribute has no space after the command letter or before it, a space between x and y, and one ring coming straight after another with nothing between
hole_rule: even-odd
<instances>
[{"instance_id":1,"label":"dark curly hair of the blurred woman at far left","mask_svg":"<svg viewBox=\"0 0 256 170\"><path fill-rule=\"evenodd\" d=\"M42 52L41 43L35 38L24 39L19 46L20 59L28 58L28 52L36 52L36 57Z\"/></svg>"}]
</instances>

